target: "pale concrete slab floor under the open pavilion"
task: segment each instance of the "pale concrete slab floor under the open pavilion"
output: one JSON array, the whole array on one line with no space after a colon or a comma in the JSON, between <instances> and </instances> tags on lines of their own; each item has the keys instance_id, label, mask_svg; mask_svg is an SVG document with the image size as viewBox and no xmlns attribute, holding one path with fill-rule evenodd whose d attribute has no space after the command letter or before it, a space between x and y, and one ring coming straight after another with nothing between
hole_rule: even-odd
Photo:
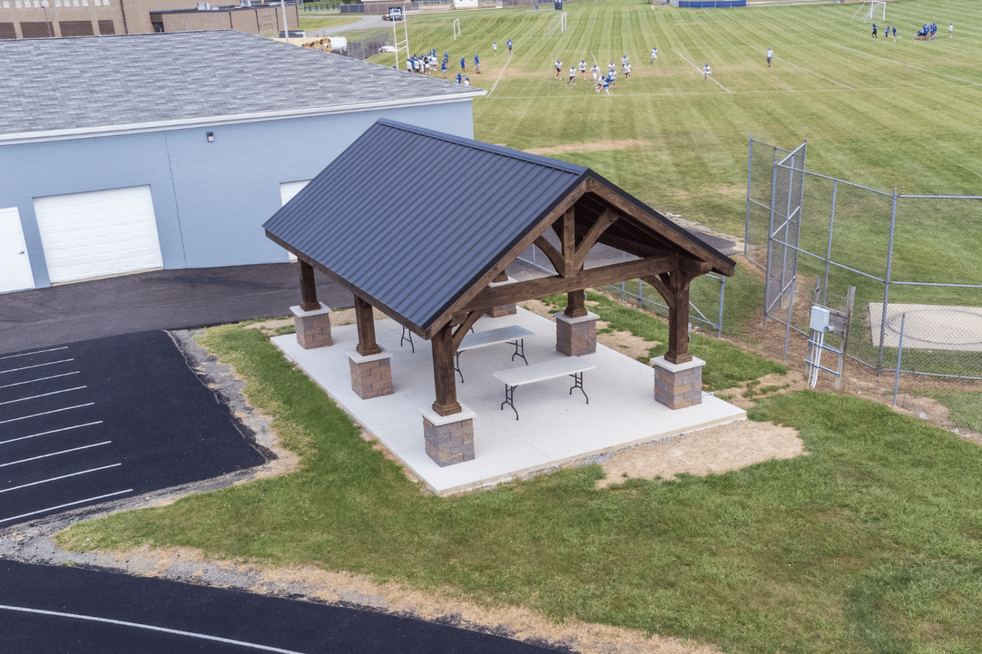
<instances>
[{"instance_id":1,"label":"pale concrete slab floor under the open pavilion","mask_svg":"<svg viewBox=\"0 0 982 654\"><path fill-rule=\"evenodd\" d=\"M537 363L564 355L556 352L556 324L523 308L501 318L482 317L475 331L520 325L535 336L525 339L525 356ZM394 320L375 323L375 335L392 354L393 395L361 400L352 391L348 354L355 352L355 325L334 326L334 346L303 350L293 334L273 343L356 422L381 441L437 495L493 485L585 457L621 450L684 432L742 420L746 411L703 395L702 404L672 410L654 399L654 371L640 361L602 345L588 357L596 365L583 374L589 404L573 379L561 377L519 387L515 404L501 409L504 385L491 375L524 365L511 345L461 354L464 383L458 376L458 400L474 417L473 461L440 467L426 456L420 409L435 398L430 343L414 337L400 347L403 328ZM711 366L712 361L706 365Z\"/></svg>"}]
</instances>

